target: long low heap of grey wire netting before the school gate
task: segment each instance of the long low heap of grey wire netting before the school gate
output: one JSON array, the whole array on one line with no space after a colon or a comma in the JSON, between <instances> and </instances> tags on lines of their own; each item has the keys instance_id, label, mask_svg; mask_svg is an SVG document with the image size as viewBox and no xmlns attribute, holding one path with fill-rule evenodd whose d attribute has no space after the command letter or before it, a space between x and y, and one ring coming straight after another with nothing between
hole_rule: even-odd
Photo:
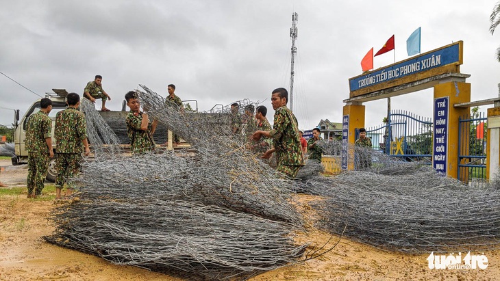
<instances>
[{"instance_id":1,"label":"long low heap of grey wire netting before the school gate","mask_svg":"<svg viewBox=\"0 0 500 281\"><path fill-rule=\"evenodd\" d=\"M429 165L400 163L379 172L313 176L305 190L318 226L384 250L410 253L491 250L500 246L500 185L471 188Z\"/></svg>"}]
</instances>

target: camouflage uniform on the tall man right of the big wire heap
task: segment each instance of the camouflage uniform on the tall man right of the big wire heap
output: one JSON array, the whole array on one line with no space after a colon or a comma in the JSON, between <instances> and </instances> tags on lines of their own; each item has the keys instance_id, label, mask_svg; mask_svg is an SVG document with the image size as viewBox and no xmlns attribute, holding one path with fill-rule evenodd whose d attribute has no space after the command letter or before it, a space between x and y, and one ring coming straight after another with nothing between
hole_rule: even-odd
<instances>
[{"instance_id":1,"label":"camouflage uniform on the tall man right of the big wire heap","mask_svg":"<svg viewBox=\"0 0 500 281\"><path fill-rule=\"evenodd\" d=\"M270 135L276 152L276 170L294 178L304 165L304 156L297 118L288 107L282 106L276 109Z\"/></svg>"}]
</instances>

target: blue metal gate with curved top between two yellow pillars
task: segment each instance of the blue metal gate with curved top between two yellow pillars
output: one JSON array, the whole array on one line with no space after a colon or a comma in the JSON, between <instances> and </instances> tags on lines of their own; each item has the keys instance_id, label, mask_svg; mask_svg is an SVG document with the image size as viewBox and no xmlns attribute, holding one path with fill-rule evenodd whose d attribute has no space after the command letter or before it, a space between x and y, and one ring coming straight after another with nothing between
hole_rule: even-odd
<instances>
[{"instance_id":1,"label":"blue metal gate with curved top between two yellow pillars","mask_svg":"<svg viewBox=\"0 0 500 281\"><path fill-rule=\"evenodd\" d=\"M391 111L384 124L366 129L373 149L406 161L432 162L432 118L408 111ZM358 136L356 136L357 138Z\"/></svg>"}]
</instances>

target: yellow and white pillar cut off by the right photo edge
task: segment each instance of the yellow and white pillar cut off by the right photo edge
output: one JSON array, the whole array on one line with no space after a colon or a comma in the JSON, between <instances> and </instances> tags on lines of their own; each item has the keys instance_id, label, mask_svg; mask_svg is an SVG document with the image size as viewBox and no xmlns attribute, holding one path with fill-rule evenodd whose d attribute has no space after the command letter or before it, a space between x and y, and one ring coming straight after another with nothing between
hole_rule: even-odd
<instances>
[{"instance_id":1,"label":"yellow and white pillar cut off by the right photo edge","mask_svg":"<svg viewBox=\"0 0 500 281\"><path fill-rule=\"evenodd\" d=\"M486 178L495 178L500 166L500 107L488 108L488 132L486 135Z\"/></svg>"}]
</instances>

